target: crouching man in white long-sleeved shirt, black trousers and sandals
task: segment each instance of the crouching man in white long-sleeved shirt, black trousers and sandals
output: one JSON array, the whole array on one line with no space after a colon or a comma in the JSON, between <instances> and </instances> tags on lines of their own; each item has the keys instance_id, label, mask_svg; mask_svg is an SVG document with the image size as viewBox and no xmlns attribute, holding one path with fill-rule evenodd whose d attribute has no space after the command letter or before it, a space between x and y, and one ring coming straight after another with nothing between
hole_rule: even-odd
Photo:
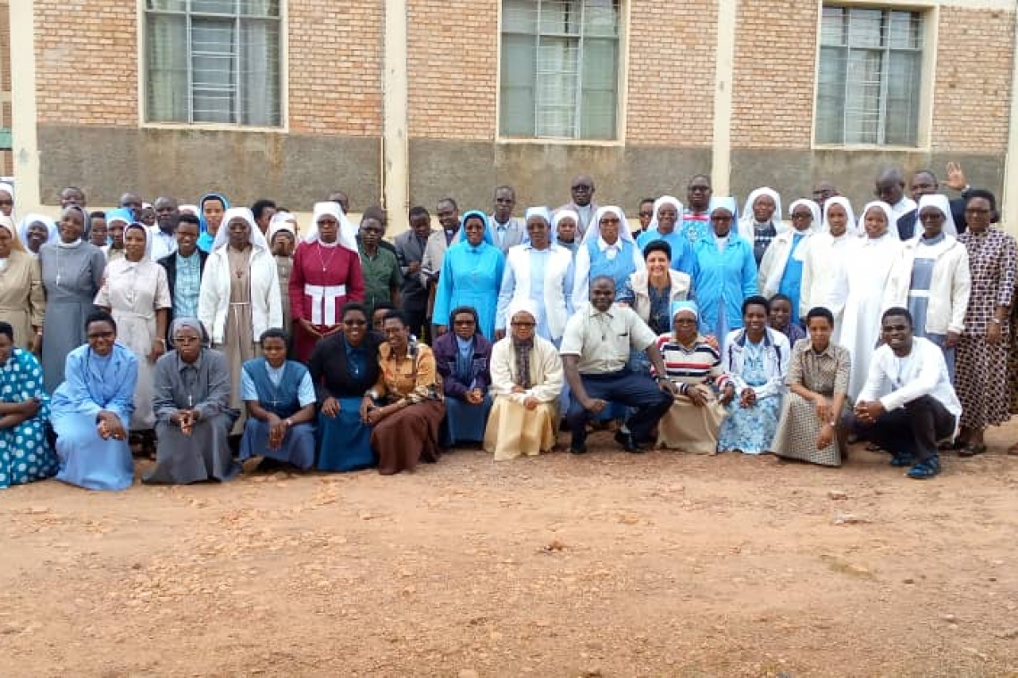
<instances>
[{"instance_id":1,"label":"crouching man in white long-sleeved shirt, black trousers and sandals","mask_svg":"<svg viewBox=\"0 0 1018 678\"><path fill-rule=\"evenodd\" d=\"M905 308L884 312L881 336L884 345L869 363L850 423L894 454L891 466L911 466L909 478L934 478L941 472L937 441L954 436L961 416L944 353L912 335L912 315Z\"/></svg>"}]
</instances>

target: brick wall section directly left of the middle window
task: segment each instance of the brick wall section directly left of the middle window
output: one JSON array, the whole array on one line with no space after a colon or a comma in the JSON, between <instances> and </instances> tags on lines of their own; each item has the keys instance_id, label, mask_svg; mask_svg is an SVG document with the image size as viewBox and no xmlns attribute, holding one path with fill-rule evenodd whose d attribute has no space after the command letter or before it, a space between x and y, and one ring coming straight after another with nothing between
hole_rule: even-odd
<instances>
[{"instance_id":1,"label":"brick wall section directly left of the middle window","mask_svg":"<svg viewBox=\"0 0 1018 678\"><path fill-rule=\"evenodd\" d=\"M408 10L410 136L493 140L497 2L410 0Z\"/></svg>"}]
</instances>

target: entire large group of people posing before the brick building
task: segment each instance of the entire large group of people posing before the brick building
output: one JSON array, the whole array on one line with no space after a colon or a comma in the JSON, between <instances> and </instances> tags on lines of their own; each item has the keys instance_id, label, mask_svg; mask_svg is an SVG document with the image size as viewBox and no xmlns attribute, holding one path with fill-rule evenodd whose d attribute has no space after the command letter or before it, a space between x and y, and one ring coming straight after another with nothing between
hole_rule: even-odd
<instances>
[{"instance_id":1,"label":"entire large group of people posing before the brick building","mask_svg":"<svg viewBox=\"0 0 1018 678\"><path fill-rule=\"evenodd\" d=\"M506 459L560 426L583 453L612 420L631 452L838 466L859 437L931 478L1018 405L1015 241L992 193L948 176L959 198L925 171L910 198L885 171L857 214L822 182L786 226L777 191L740 212L696 175L630 230L581 175L522 220L510 186L491 213L440 200L437 230L415 206L392 243L384 209L354 227L339 191L303 229L272 200L90 212L77 188L59 224L15 225L3 185L0 487L120 489L132 444L152 483L251 457L393 474L465 442Z\"/></svg>"}]
</instances>

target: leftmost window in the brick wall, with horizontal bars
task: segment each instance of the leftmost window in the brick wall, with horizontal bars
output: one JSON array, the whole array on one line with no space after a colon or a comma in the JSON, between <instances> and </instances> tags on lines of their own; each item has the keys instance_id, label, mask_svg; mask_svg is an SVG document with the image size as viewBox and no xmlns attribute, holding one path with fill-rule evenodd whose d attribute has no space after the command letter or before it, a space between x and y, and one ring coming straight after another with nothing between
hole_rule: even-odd
<instances>
[{"instance_id":1,"label":"leftmost window in the brick wall, with horizontal bars","mask_svg":"<svg viewBox=\"0 0 1018 678\"><path fill-rule=\"evenodd\" d=\"M146 0L150 122L280 124L279 0Z\"/></svg>"}]
</instances>

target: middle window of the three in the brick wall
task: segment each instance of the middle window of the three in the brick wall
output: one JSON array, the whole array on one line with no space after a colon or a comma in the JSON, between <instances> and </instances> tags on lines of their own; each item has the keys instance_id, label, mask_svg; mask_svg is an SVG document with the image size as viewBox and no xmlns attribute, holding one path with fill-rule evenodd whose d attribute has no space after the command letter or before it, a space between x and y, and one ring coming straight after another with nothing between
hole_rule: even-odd
<instances>
[{"instance_id":1,"label":"middle window of the three in the brick wall","mask_svg":"<svg viewBox=\"0 0 1018 678\"><path fill-rule=\"evenodd\" d=\"M502 135L616 138L619 0L503 0L502 9Z\"/></svg>"}]
</instances>

